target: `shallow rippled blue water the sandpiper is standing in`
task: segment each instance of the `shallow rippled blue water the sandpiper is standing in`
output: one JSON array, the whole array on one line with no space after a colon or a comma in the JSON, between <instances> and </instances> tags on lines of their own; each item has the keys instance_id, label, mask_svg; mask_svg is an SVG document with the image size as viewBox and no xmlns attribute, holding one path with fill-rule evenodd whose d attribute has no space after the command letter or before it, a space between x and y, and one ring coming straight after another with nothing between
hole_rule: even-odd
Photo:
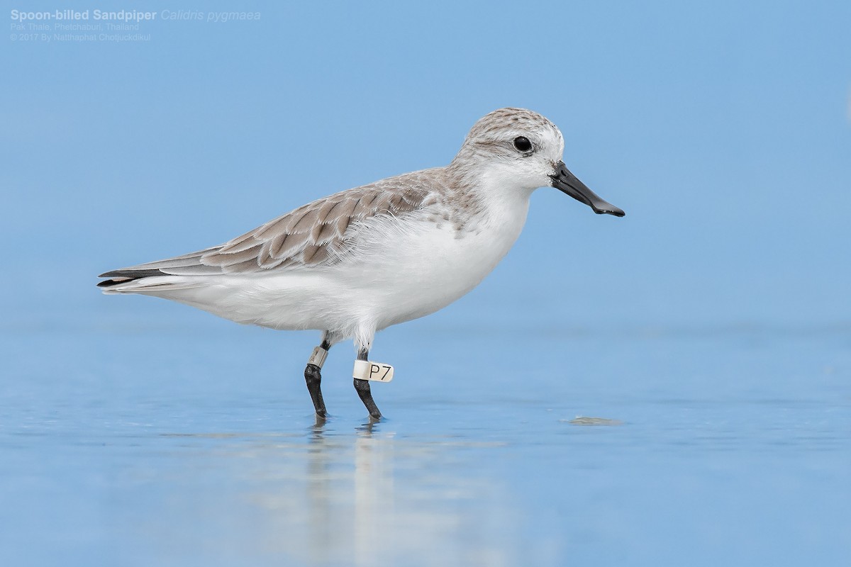
<instances>
[{"instance_id":1,"label":"shallow rippled blue water the sandpiper is standing in","mask_svg":"<svg viewBox=\"0 0 851 567\"><path fill-rule=\"evenodd\" d=\"M3 327L3 564L851 558L848 328L423 320L384 421L340 345L317 423L316 336L175 313Z\"/></svg>"}]
</instances>

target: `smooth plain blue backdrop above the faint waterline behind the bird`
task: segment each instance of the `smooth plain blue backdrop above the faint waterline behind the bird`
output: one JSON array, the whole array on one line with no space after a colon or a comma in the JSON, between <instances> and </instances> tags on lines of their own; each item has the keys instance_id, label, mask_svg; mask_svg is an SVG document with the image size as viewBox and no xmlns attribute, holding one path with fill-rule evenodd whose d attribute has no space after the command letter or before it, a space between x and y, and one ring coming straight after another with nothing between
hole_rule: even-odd
<instances>
[{"instance_id":1,"label":"smooth plain blue backdrop above the faint waterline behind the bird","mask_svg":"<svg viewBox=\"0 0 851 567\"><path fill-rule=\"evenodd\" d=\"M505 263L436 318L525 295L583 326L848 322L848 3L247 9L149 42L7 43L4 310L116 309L91 275L443 165L516 105L628 216L538 191Z\"/></svg>"}]
</instances>

